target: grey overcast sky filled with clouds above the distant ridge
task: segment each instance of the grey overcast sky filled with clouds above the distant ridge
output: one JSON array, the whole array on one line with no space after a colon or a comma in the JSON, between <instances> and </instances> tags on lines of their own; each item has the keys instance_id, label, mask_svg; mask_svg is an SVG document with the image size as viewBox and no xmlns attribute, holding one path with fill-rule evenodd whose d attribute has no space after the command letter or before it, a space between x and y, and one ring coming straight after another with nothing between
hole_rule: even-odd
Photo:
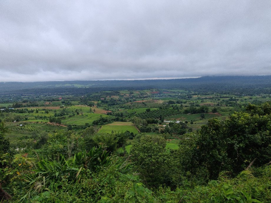
<instances>
[{"instance_id":1,"label":"grey overcast sky filled with clouds above the distant ridge","mask_svg":"<svg viewBox=\"0 0 271 203\"><path fill-rule=\"evenodd\" d=\"M271 75L271 1L0 1L0 81Z\"/></svg>"}]
</instances>

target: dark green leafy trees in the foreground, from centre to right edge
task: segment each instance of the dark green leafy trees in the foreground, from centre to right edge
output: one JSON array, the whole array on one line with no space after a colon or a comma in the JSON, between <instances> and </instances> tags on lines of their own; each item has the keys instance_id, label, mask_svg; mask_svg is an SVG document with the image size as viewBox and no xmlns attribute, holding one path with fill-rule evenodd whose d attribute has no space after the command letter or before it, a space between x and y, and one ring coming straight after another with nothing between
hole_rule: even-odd
<instances>
[{"instance_id":1,"label":"dark green leafy trees in the foreground, from centre to right edge","mask_svg":"<svg viewBox=\"0 0 271 203\"><path fill-rule=\"evenodd\" d=\"M182 136L179 150L171 153L159 136L141 137L131 156L142 179L147 185L182 187L188 182L206 184L223 171L235 177L251 165L270 164L271 106L249 105L247 111L236 112L227 120L210 119L201 130Z\"/></svg>"}]
</instances>

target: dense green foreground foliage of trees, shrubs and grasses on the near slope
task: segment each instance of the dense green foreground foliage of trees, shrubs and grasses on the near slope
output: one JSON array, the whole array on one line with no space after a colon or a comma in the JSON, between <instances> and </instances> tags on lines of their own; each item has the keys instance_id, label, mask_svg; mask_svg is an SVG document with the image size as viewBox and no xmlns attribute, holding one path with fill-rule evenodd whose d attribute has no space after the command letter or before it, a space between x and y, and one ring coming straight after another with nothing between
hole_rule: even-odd
<instances>
[{"instance_id":1,"label":"dense green foreground foliage of trees, shrubs and grasses on the near slope","mask_svg":"<svg viewBox=\"0 0 271 203\"><path fill-rule=\"evenodd\" d=\"M270 202L271 106L210 119L167 150L162 135L97 138L91 128L49 135L15 153L0 125L0 199L24 202ZM96 137L95 137L96 136ZM127 135L128 136L128 135ZM10 196L9 196L10 195Z\"/></svg>"}]
</instances>

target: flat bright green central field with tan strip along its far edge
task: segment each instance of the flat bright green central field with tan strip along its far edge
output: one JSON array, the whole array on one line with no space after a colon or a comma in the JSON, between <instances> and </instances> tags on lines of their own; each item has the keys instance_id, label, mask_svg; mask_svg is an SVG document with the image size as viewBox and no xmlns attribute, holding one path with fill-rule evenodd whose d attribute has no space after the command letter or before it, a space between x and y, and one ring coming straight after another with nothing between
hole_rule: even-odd
<instances>
[{"instance_id":1,"label":"flat bright green central field with tan strip along its far edge","mask_svg":"<svg viewBox=\"0 0 271 203\"><path fill-rule=\"evenodd\" d=\"M103 125L99 132L101 133L111 133L114 132L126 132L127 130L137 134L138 131L132 122L114 122L107 125Z\"/></svg>"}]
</instances>

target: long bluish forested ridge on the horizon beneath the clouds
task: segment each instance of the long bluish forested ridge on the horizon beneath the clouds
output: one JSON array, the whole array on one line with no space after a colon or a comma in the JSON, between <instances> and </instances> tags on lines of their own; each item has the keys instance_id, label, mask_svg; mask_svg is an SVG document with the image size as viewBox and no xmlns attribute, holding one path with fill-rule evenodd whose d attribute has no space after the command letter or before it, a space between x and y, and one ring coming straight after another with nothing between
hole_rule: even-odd
<instances>
[{"instance_id":1,"label":"long bluish forested ridge on the horizon beneath the clouds","mask_svg":"<svg viewBox=\"0 0 271 203\"><path fill-rule=\"evenodd\" d=\"M85 94L105 90L182 88L191 91L269 93L271 76L205 76L169 80L75 80L47 82L0 82L0 94ZM253 91L251 91L253 88ZM267 89L268 88L268 89Z\"/></svg>"}]
</instances>

